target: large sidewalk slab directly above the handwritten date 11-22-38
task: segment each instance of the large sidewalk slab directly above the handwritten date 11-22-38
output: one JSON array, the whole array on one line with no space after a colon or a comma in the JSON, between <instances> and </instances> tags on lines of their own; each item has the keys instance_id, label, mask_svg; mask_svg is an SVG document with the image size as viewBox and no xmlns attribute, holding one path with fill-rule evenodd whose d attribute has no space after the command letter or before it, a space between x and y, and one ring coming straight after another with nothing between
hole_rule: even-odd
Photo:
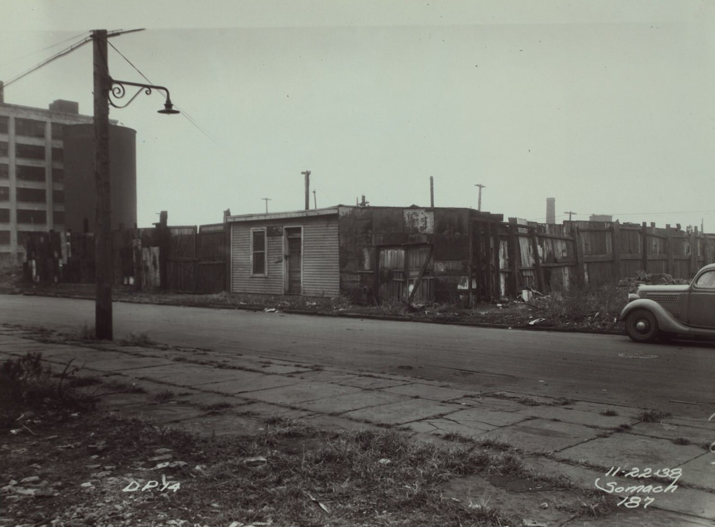
<instances>
[{"instance_id":1,"label":"large sidewalk slab directly above the handwritten date 11-22-38","mask_svg":"<svg viewBox=\"0 0 715 527\"><path fill-rule=\"evenodd\" d=\"M616 433L597 438L556 453L557 458L586 460L602 467L621 466L674 468L697 458L704 450L695 445L674 445L671 441L645 435Z\"/></svg>"}]
</instances>

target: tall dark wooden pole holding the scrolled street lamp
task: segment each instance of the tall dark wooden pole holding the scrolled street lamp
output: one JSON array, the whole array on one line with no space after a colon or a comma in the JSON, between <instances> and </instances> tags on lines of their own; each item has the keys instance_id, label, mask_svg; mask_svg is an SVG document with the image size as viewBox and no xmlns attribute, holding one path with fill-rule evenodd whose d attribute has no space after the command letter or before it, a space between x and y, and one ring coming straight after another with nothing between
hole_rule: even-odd
<instances>
[{"instance_id":1,"label":"tall dark wooden pole holding the scrolled street lamp","mask_svg":"<svg viewBox=\"0 0 715 527\"><path fill-rule=\"evenodd\" d=\"M94 182L97 209L94 242L97 288L94 303L94 331L98 339L112 340L112 196L109 184L109 64L107 29L92 31L94 39Z\"/></svg>"}]
</instances>

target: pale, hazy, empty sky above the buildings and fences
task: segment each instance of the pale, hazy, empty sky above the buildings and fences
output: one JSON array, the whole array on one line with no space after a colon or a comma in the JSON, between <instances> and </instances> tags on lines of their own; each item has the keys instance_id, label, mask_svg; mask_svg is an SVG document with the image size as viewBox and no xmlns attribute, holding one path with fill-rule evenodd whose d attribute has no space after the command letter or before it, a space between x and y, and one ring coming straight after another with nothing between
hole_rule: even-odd
<instances>
[{"instance_id":1,"label":"pale, hazy, empty sky above the buildings and fences","mask_svg":"<svg viewBox=\"0 0 715 527\"><path fill-rule=\"evenodd\" d=\"M140 227L300 210L310 170L317 207L429 206L431 176L438 207L476 209L483 184L505 219L544 222L554 197L557 222L715 232L712 1L0 6L5 82L92 29L144 28L110 39L110 74L168 87L182 114L159 94L110 112L137 130ZM92 114L91 43L5 89L54 99Z\"/></svg>"}]
</instances>

